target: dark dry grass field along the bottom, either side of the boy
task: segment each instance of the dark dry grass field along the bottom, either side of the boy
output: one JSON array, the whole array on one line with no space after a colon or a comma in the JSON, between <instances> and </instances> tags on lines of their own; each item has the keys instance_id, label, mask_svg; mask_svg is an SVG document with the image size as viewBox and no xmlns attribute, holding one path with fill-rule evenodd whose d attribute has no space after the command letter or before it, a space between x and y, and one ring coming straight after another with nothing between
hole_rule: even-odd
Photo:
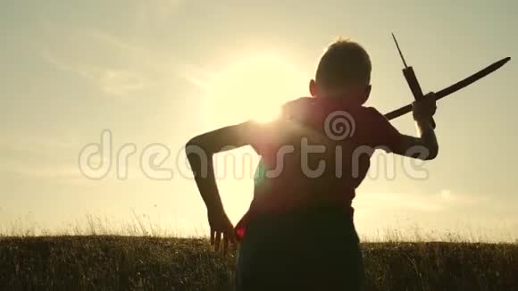
<instances>
[{"instance_id":1,"label":"dark dry grass field along the bottom, either side of the boy","mask_svg":"<svg viewBox=\"0 0 518 291\"><path fill-rule=\"evenodd\" d=\"M363 243L367 290L518 290L518 245ZM231 290L202 238L0 237L0 290Z\"/></svg>"}]
</instances>

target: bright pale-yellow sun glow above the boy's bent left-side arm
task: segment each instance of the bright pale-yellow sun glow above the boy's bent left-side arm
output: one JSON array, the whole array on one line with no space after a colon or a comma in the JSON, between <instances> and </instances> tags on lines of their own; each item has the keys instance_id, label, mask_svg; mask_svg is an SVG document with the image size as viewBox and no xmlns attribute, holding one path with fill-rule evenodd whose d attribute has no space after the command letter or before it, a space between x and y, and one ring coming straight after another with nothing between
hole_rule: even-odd
<instances>
[{"instance_id":1,"label":"bright pale-yellow sun glow above the boy's bent left-side arm","mask_svg":"<svg viewBox=\"0 0 518 291\"><path fill-rule=\"evenodd\" d=\"M304 94L304 74L277 54L231 62L209 82L212 121L272 121L280 105Z\"/></svg>"}]
</instances>

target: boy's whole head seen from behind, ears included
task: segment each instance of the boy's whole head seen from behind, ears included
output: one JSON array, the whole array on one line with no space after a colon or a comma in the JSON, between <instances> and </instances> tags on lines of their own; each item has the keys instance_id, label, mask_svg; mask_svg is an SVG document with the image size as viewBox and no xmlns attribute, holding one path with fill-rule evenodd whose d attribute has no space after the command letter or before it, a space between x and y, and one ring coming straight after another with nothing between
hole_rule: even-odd
<instances>
[{"instance_id":1,"label":"boy's whole head seen from behind, ears included","mask_svg":"<svg viewBox=\"0 0 518 291\"><path fill-rule=\"evenodd\" d=\"M363 104L371 94L372 64L369 54L354 41L339 39L331 44L310 82L312 96L347 98Z\"/></svg>"}]
</instances>

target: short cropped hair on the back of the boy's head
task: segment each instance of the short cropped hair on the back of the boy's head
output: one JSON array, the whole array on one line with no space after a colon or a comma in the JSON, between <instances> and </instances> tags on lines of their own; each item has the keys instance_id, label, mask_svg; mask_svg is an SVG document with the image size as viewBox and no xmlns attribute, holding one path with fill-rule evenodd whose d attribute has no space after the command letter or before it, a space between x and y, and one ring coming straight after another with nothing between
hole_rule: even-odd
<instances>
[{"instance_id":1,"label":"short cropped hair on the back of the boy's head","mask_svg":"<svg viewBox=\"0 0 518 291\"><path fill-rule=\"evenodd\" d=\"M339 38L328 46L316 70L315 80L323 87L371 83L371 57L360 44Z\"/></svg>"}]
</instances>

